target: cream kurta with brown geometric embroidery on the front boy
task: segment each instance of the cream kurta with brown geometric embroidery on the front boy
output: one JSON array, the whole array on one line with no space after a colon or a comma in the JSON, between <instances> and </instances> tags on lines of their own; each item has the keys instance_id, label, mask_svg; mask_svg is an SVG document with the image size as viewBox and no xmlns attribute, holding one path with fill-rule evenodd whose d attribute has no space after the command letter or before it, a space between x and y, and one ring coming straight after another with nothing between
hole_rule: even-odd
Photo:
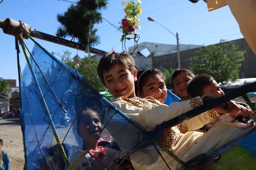
<instances>
[{"instance_id":1,"label":"cream kurta with brown geometric embroidery on the front boy","mask_svg":"<svg viewBox=\"0 0 256 170\"><path fill-rule=\"evenodd\" d=\"M175 102L169 106L159 105L152 108L138 108L123 100L112 99L111 102L127 116L144 126L146 130L152 130L155 125L168 121L203 104L200 97L182 102ZM216 116L220 115L217 113ZM243 133L243 131L238 129L232 122L221 122L213 126L207 133L189 131L190 129L198 129L199 126L202 127L204 124L211 122L211 120L212 118L209 118L209 116L201 114L193 118L191 122L194 123L189 121L183 123L182 126L184 126L188 132L182 134L182 137L178 140L176 145L170 147L169 150L186 162L201 153L208 153L211 150L214 150ZM160 152L172 169L181 169L180 164L178 164L171 156L161 149ZM135 154L140 154L140 157L142 157L143 153L135 152L130 155L131 162L135 169L167 169L167 166L161 157L158 157L154 164L141 165L137 163L138 161L133 159Z\"/></svg>"}]
</instances>

